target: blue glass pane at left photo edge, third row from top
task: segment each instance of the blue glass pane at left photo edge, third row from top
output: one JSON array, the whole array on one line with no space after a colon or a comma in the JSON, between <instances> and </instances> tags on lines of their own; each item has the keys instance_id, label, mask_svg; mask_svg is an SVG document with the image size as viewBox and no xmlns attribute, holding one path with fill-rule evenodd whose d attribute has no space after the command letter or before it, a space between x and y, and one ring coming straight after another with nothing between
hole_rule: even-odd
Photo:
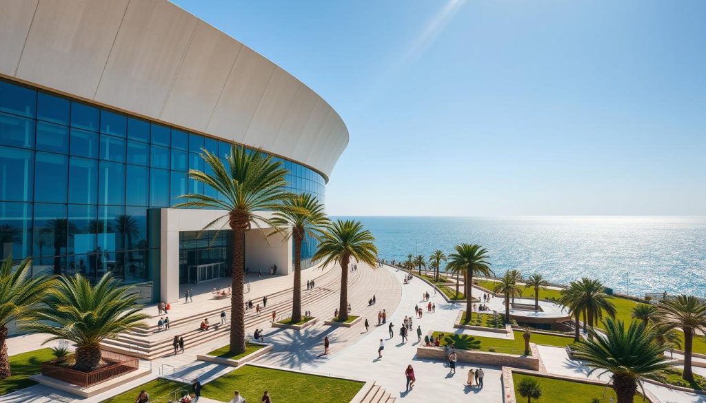
<instances>
[{"instance_id":1,"label":"blue glass pane at left photo edge, third row from top","mask_svg":"<svg viewBox=\"0 0 706 403\"><path fill-rule=\"evenodd\" d=\"M0 200L32 200L34 153L0 147Z\"/></svg>"}]
</instances>

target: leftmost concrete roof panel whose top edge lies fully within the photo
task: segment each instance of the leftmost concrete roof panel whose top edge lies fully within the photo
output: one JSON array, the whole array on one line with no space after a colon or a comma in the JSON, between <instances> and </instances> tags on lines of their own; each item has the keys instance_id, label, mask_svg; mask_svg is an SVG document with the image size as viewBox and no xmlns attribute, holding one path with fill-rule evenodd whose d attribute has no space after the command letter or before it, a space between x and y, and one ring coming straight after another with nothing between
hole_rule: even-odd
<instances>
[{"instance_id":1,"label":"leftmost concrete roof panel whose top edge lies fully within the photo","mask_svg":"<svg viewBox=\"0 0 706 403\"><path fill-rule=\"evenodd\" d=\"M240 42L198 21L160 119L205 131L242 47Z\"/></svg>"}]
</instances>

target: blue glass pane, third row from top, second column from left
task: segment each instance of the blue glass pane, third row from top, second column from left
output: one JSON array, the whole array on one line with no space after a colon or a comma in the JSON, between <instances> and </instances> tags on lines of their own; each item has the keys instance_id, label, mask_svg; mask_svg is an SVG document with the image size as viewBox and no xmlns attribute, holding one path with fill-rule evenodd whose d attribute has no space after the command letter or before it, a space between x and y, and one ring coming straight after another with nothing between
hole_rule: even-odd
<instances>
[{"instance_id":1,"label":"blue glass pane, third row from top, second column from left","mask_svg":"<svg viewBox=\"0 0 706 403\"><path fill-rule=\"evenodd\" d=\"M68 157L37 152L35 155L35 201L66 203Z\"/></svg>"}]
</instances>

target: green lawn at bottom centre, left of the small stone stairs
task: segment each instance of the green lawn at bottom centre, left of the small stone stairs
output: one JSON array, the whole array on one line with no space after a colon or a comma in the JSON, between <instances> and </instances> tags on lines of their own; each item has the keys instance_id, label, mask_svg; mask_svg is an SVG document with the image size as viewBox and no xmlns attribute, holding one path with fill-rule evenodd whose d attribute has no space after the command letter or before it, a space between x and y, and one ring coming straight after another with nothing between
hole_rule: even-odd
<instances>
[{"instance_id":1,"label":"green lawn at bottom centre, left of the small stone stairs","mask_svg":"<svg viewBox=\"0 0 706 403\"><path fill-rule=\"evenodd\" d=\"M203 385L201 395L229 402L233 391L239 390L248 402L260 402L268 390L277 403L340 403L350 402L363 385L353 380L246 365Z\"/></svg>"}]
</instances>

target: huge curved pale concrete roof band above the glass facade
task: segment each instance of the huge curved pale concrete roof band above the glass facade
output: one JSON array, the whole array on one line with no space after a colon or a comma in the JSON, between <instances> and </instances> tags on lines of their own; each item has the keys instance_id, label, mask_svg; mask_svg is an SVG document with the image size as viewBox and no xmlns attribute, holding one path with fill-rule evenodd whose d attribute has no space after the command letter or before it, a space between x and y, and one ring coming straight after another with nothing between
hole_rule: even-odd
<instances>
[{"instance_id":1,"label":"huge curved pale concrete roof band above the glass facade","mask_svg":"<svg viewBox=\"0 0 706 403\"><path fill-rule=\"evenodd\" d=\"M327 177L348 144L340 116L304 83L167 0L4 0L0 75Z\"/></svg>"}]
</instances>

